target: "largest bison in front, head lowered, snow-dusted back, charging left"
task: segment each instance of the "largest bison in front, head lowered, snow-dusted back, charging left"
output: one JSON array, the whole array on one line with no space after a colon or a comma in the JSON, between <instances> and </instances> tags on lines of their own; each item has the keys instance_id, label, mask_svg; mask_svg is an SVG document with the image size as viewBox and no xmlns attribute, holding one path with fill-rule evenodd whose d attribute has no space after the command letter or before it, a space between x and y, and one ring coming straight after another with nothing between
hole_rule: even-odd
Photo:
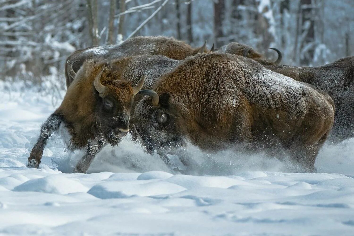
<instances>
[{"instance_id":1,"label":"largest bison in front, head lowered, snow-dusted back, charging left","mask_svg":"<svg viewBox=\"0 0 354 236\"><path fill-rule=\"evenodd\" d=\"M325 92L231 54L188 57L154 90L139 93L149 97L138 102L131 123L148 150L185 139L206 151L282 146L306 171L314 171L334 117Z\"/></svg>"}]
</instances>

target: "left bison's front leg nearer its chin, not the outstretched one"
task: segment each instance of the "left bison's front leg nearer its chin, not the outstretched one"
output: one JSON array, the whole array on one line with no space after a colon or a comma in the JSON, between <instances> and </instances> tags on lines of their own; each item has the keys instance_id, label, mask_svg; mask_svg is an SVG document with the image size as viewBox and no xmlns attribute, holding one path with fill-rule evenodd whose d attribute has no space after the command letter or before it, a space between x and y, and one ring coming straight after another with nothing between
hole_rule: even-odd
<instances>
[{"instance_id":1,"label":"left bison's front leg nearer its chin, not the outstretched one","mask_svg":"<svg viewBox=\"0 0 354 236\"><path fill-rule=\"evenodd\" d=\"M86 173L96 154L101 151L106 144L107 141L103 134L98 135L95 140L89 141L86 154L80 159L74 168L74 173Z\"/></svg>"}]
</instances>

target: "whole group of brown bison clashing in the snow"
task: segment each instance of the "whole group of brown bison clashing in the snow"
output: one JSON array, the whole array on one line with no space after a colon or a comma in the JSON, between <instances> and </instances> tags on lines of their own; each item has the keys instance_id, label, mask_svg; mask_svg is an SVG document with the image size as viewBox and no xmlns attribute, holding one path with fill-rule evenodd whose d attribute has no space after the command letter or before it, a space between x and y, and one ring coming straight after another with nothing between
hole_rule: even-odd
<instances>
[{"instance_id":1,"label":"whole group of brown bison clashing in the snow","mask_svg":"<svg viewBox=\"0 0 354 236\"><path fill-rule=\"evenodd\" d=\"M41 126L28 158L38 168L48 137L63 124L71 150L86 148L75 173L130 132L167 165L186 141L208 153L242 147L284 150L299 167L315 172L327 137L354 131L354 57L320 67L280 65L245 44L198 48L167 37L135 37L120 45L75 51L66 61L67 93ZM330 134L331 132L331 134Z\"/></svg>"}]
</instances>

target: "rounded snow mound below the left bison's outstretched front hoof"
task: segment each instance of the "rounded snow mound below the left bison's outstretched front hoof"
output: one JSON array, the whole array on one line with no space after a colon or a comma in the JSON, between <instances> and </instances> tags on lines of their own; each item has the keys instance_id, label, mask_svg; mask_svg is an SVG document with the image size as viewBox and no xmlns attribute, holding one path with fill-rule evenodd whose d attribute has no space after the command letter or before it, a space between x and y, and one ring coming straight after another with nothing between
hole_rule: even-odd
<instances>
[{"instance_id":1,"label":"rounded snow mound below the left bison's outstretched front hoof","mask_svg":"<svg viewBox=\"0 0 354 236\"><path fill-rule=\"evenodd\" d=\"M19 192L33 191L56 194L87 192L87 190L88 188L80 184L80 182L57 175L28 180L13 189L13 191Z\"/></svg>"}]
</instances>

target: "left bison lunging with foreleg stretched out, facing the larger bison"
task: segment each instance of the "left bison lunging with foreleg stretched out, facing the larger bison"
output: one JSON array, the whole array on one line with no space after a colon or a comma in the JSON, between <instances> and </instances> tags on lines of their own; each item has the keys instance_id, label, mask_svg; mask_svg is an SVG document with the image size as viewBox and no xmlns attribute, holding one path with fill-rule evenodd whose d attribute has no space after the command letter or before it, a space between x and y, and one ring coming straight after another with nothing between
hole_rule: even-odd
<instances>
[{"instance_id":1,"label":"left bison lunging with foreleg stretched out, facing the larger bison","mask_svg":"<svg viewBox=\"0 0 354 236\"><path fill-rule=\"evenodd\" d=\"M75 61L74 61L75 62ZM85 173L96 153L107 143L117 145L129 131L134 96L151 89L162 74L180 61L165 56L125 57L110 63L86 61L69 86L62 104L41 126L40 136L28 158L28 167L38 168L48 137L63 123L70 148L87 147L74 172Z\"/></svg>"}]
</instances>

